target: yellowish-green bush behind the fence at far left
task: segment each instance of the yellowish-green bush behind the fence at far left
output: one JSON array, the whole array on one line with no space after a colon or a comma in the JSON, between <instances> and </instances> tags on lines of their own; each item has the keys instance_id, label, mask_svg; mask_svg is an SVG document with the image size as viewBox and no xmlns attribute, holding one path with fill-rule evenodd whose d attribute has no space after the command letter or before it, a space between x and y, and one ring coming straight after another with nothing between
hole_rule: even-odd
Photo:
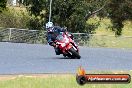
<instances>
[{"instance_id":1,"label":"yellowish-green bush behind the fence at far left","mask_svg":"<svg viewBox=\"0 0 132 88\"><path fill-rule=\"evenodd\" d=\"M30 16L25 11L16 11L14 8L0 13L0 27L28 28Z\"/></svg>"}]
</instances>

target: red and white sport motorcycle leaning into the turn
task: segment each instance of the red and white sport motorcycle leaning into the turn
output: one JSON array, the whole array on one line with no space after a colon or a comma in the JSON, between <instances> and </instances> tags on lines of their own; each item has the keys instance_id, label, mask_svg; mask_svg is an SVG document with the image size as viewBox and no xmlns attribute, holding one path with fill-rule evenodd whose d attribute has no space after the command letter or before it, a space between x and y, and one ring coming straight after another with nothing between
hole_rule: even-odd
<instances>
[{"instance_id":1,"label":"red and white sport motorcycle leaning into the turn","mask_svg":"<svg viewBox=\"0 0 132 88\"><path fill-rule=\"evenodd\" d=\"M73 39L68 36L68 33L62 32L56 37L55 40L56 47L59 48L61 54L64 57L77 58L80 59L79 48L75 45Z\"/></svg>"}]
</instances>

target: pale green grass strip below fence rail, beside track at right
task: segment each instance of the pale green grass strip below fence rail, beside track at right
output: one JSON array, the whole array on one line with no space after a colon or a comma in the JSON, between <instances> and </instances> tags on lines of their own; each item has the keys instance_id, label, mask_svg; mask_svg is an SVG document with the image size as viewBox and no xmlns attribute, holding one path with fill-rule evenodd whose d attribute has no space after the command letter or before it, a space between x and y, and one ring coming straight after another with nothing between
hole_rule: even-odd
<instances>
[{"instance_id":1,"label":"pale green grass strip below fence rail, beside track at right","mask_svg":"<svg viewBox=\"0 0 132 88\"><path fill-rule=\"evenodd\" d=\"M90 47L132 48L132 37L91 36L85 44Z\"/></svg>"}]
</instances>

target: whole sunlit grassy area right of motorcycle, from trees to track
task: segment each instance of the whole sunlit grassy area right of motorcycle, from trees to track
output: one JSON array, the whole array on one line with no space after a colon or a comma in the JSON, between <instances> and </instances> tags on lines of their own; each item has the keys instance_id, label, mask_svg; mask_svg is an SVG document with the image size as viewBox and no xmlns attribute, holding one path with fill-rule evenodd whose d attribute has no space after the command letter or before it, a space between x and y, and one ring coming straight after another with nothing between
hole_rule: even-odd
<instances>
[{"instance_id":1,"label":"whole sunlit grassy area right of motorcycle, from trees to track","mask_svg":"<svg viewBox=\"0 0 132 88\"><path fill-rule=\"evenodd\" d=\"M109 47L109 48L132 48L132 22L125 21L122 36L115 37L111 30L112 24L110 19L99 19L98 17L90 18L88 23L100 23L95 30L95 35L90 37L90 40L85 43L89 47ZM110 36L109 36L110 35Z\"/></svg>"}]
</instances>

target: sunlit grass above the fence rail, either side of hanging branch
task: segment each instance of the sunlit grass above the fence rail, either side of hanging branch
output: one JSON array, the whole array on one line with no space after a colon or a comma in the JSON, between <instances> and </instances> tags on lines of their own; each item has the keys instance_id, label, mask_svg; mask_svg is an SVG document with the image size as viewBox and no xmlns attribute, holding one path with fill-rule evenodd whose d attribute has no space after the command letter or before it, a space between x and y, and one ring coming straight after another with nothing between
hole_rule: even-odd
<instances>
[{"instance_id":1,"label":"sunlit grass above the fence rail, either side of hanging branch","mask_svg":"<svg viewBox=\"0 0 132 88\"><path fill-rule=\"evenodd\" d=\"M88 23L96 24L97 22L100 23L99 27L95 29L96 34L99 35L114 35L114 31L111 30L112 23L110 19L108 18L103 18L99 20L98 17L93 17L89 20ZM124 21L123 22L124 27L122 29L122 36L132 36L132 21Z\"/></svg>"}]
</instances>

